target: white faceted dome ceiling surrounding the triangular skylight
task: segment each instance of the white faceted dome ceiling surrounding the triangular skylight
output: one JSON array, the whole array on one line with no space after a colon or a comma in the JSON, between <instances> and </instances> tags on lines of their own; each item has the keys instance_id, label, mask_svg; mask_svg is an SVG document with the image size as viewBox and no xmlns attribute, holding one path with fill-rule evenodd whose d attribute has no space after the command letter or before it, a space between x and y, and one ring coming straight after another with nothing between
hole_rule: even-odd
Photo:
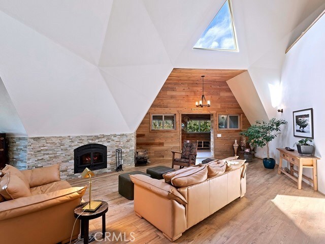
<instances>
[{"instance_id":1,"label":"white faceted dome ceiling surrounding the triangular skylight","mask_svg":"<svg viewBox=\"0 0 325 244\"><path fill-rule=\"evenodd\" d=\"M284 49L324 0L232 0L239 52L193 50L223 3L0 0L0 76L28 136L134 132L173 68L248 69L271 116Z\"/></svg>"}]
</instances>

